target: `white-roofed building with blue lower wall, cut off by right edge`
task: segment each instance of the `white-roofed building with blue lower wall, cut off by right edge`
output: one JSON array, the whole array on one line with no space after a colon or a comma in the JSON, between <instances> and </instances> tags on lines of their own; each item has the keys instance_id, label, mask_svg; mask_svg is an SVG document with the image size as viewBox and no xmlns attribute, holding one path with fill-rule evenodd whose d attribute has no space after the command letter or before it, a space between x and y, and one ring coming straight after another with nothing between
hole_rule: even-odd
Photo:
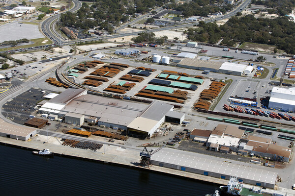
<instances>
[{"instance_id":1,"label":"white-roofed building with blue lower wall, cut off by right edge","mask_svg":"<svg viewBox=\"0 0 295 196\"><path fill-rule=\"evenodd\" d=\"M273 87L268 108L295 112L295 87L289 89Z\"/></svg>"}]
</instances>

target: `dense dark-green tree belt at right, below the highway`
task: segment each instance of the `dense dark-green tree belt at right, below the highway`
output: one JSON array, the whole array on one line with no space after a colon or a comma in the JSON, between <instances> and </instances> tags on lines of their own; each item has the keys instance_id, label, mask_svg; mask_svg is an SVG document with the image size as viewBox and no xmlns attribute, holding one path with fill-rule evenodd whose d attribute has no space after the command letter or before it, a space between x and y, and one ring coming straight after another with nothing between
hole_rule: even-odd
<instances>
[{"instance_id":1,"label":"dense dark-green tree belt at right, below the highway","mask_svg":"<svg viewBox=\"0 0 295 196\"><path fill-rule=\"evenodd\" d=\"M295 54L295 23L288 17L275 19L255 18L247 15L233 16L218 27L216 23L199 23L200 28L187 30L188 39L216 44L223 38L221 45L234 46L237 42L252 42L276 46L289 54Z\"/></svg>"}]
</instances>

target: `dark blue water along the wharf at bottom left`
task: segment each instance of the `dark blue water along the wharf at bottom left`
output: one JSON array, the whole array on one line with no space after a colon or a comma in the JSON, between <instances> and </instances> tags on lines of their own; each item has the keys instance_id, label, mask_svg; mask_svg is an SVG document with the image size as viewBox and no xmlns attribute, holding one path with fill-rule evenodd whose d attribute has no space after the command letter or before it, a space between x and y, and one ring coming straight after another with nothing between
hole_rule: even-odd
<instances>
[{"instance_id":1,"label":"dark blue water along the wharf at bottom left","mask_svg":"<svg viewBox=\"0 0 295 196\"><path fill-rule=\"evenodd\" d=\"M218 185L0 145L0 196L205 196Z\"/></svg>"}]
</instances>

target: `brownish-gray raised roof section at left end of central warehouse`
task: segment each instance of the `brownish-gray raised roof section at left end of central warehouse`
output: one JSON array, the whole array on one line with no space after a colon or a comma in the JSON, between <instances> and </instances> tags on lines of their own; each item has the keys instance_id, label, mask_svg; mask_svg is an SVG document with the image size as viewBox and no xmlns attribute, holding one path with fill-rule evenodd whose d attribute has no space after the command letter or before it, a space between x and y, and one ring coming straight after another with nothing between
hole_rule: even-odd
<instances>
[{"instance_id":1,"label":"brownish-gray raised roof section at left end of central warehouse","mask_svg":"<svg viewBox=\"0 0 295 196\"><path fill-rule=\"evenodd\" d=\"M70 102L73 98L76 98L82 94L87 94L86 89L67 89L61 94L59 94L57 97L52 98L50 103L64 103L67 104Z\"/></svg>"}]
</instances>

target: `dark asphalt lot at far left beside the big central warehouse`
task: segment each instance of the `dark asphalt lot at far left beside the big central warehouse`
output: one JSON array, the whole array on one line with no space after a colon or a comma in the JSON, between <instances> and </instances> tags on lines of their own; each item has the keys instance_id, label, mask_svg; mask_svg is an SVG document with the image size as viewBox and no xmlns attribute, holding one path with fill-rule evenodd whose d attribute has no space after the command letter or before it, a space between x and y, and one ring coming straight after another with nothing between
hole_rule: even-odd
<instances>
[{"instance_id":1,"label":"dark asphalt lot at far left beside the big central warehouse","mask_svg":"<svg viewBox=\"0 0 295 196\"><path fill-rule=\"evenodd\" d=\"M2 106L2 115L13 119L15 123L24 124L29 118L29 115L35 111L30 106L44 99L44 94L41 91L40 89L31 88L29 91L6 102Z\"/></svg>"}]
</instances>

